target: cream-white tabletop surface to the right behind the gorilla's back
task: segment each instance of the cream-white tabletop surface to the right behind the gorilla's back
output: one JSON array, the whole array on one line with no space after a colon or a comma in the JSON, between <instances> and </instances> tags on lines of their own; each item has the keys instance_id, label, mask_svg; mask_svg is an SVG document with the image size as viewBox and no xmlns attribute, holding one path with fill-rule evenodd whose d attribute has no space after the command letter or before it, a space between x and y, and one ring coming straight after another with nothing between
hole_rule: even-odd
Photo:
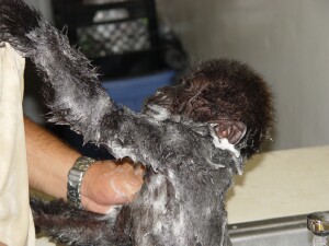
<instances>
[{"instance_id":1,"label":"cream-white tabletop surface to the right behind the gorilla's back","mask_svg":"<svg viewBox=\"0 0 329 246\"><path fill-rule=\"evenodd\" d=\"M329 145L256 155L227 196L228 222L329 210Z\"/></svg>"}]
</instances>

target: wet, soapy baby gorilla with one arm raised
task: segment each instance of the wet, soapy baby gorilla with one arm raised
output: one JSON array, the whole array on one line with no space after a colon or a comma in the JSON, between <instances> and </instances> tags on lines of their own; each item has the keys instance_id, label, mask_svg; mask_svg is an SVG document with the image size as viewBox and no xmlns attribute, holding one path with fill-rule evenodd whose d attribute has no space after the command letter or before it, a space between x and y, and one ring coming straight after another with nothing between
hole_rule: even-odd
<instances>
[{"instance_id":1,"label":"wet, soapy baby gorilla with one arm raised","mask_svg":"<svg viewBox=\"0 0 329 246\"><path fill-rule=\"evenodd\" d=\"M35 63L50 121L146 166L137 198L107 215L32 199L37 229L71 245L230 245L226 192L272 126L271 94L254 71L226 59L203 62L135 114L109 97L84 56L23 1L0 0L0 42Z\"/></svg>"}]
</instances>

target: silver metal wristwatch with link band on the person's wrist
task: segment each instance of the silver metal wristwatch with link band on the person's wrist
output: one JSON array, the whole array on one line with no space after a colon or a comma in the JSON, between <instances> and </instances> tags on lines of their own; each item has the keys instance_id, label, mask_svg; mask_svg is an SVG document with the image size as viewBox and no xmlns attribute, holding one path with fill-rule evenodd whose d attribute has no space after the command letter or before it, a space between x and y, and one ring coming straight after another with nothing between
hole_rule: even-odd
<instances>
[{"instance_id":1,"label":"silver metal wristwatch with link band on the person's wrist","mask_svg":"<svg viewBox=\"0 0 329 246\"><path fill-rule=\"evenodd\" d=\"M95 160L91 157L81 156L77 159L75 165L67 176L67 200L79 209L82 209L81 183L86 171L93 162L95 162Z\"/></svg>"}]
</instances>

